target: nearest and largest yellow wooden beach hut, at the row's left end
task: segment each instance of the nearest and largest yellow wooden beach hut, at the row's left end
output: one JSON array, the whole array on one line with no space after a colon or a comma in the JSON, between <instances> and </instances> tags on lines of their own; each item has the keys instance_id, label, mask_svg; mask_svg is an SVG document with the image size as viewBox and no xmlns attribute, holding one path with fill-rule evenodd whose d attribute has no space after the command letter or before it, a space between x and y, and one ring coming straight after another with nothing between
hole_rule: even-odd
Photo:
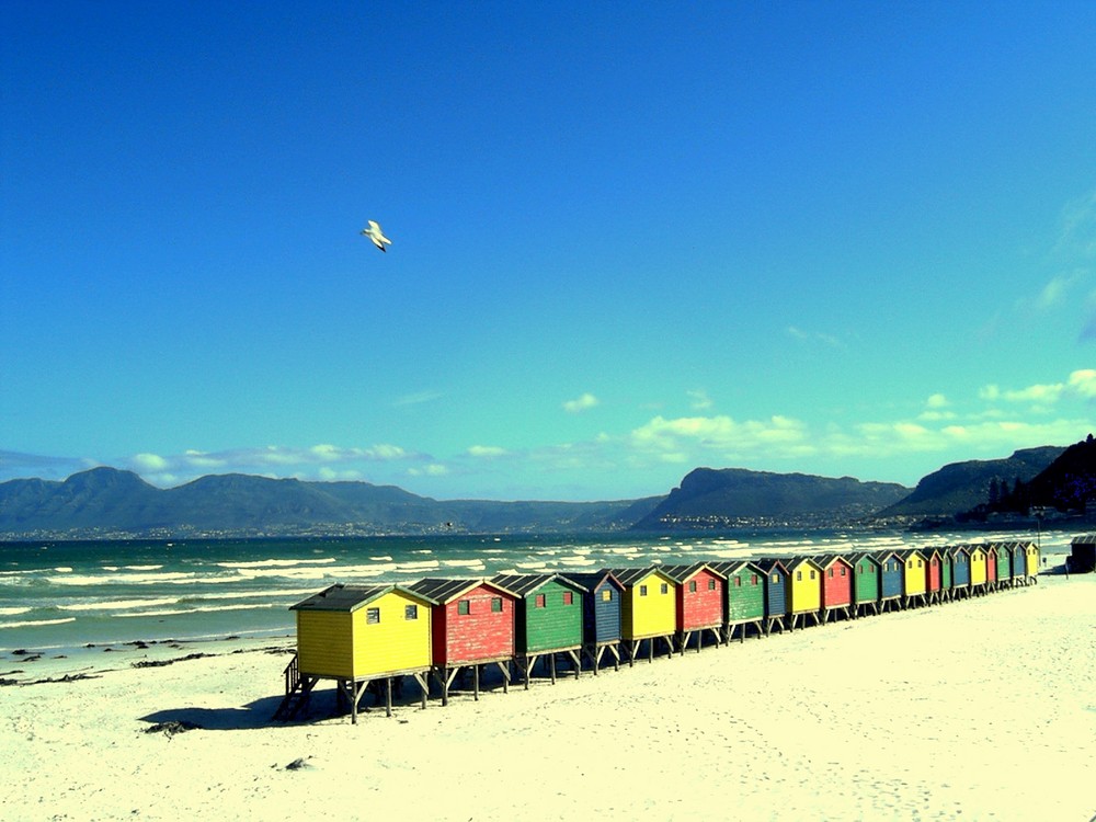
<instances>
[{"instance_id":1,"label":"nearest and largest yellow wooden beach hut, at the row's left end","mask_svg":"<svg viewBox=\"0 0 1096 822\"><path fill-rule=\"evenodd\" d=\"M339 700L357 704L370 682L385 683L391 716L391 681L412 676L426 707L434 602L392 584L332 585L290 607L297 616L297 655L286 669L286 696L278 709L289 719L320 680L334 680Z\"/></svg>"}]
</instances>

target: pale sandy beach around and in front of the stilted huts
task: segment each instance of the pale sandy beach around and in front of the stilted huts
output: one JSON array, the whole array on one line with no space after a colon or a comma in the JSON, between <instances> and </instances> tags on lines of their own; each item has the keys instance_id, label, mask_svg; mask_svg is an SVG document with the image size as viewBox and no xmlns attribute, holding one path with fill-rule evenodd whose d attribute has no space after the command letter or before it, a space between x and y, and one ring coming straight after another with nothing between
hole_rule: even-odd
<instances>
[{"instance_id":1,"label":"pale sandy beach around and in front of the stilted huts","mask_svg":"<svg viewBox=\"0 0 1096 822\"><path fill-rule=\"evenodd\" d=\"M218 650L0 688L0 817L1096 817L1092 574L356 726L270 721L289 658Z\"/></svg>"}]
</instances>

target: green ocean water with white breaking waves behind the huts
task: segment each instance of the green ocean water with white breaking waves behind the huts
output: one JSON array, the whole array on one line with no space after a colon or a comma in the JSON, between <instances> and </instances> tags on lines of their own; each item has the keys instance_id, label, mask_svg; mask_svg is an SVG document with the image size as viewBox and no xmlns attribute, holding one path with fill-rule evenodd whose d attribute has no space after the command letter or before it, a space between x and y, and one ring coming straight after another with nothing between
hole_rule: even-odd
<instances>
[{"instance_id":1,"label":"green ocean water with white breaking waves behind the huts","mask_svg":"<svg viewBox=\"0 0 1096 822\"><path fill-rule=\"evenodd\" d=\"M1070 535L1042 534L1044 556ZM288 636L289 606L334 583L581 571L923 547L1035 534L727 532L593 537L0 543L0 659L88 646Z\"/></svg>"}]
</instances>

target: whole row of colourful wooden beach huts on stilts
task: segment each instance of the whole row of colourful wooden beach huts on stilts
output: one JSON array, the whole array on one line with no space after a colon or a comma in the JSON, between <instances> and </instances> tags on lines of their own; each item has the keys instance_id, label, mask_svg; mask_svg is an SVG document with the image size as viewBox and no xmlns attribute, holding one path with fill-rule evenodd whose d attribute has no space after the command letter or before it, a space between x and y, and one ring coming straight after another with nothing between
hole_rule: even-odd
<instances>
[{"instance_id":1,"label":"whole row of colourful wooden beach huts on stilts","mask_svg":"<svg viewBox=\"0 0 1096 822\"><path fill-rule=\"evenodd\" d=\"M431 680L443 705L454 681L483 670L528 687L538 662L575 676L657 654L727 644L830 620L855 619L979 596L1036 582L1034 543L955 545L848 556L657 564L582 573L336 584L294 605L297 653L275 717L292 719L321 680L357 721L366 689L413 680L426 707ZM372 687L370 687L372 686Z\"/></svg>"}]
</instances>

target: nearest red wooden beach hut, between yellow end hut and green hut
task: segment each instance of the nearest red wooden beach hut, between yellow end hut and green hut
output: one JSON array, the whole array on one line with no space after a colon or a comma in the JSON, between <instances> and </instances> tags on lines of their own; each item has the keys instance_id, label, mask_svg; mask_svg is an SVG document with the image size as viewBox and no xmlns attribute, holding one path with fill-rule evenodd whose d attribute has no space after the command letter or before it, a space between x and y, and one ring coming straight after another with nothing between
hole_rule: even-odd
<instances>
[{"instance_id":1,"label":"nearest red wooden beach hut, between yellow end hut and green hut","mask_svg":"<svg viewBox=\"0 0 1096 822\"><path fill-rule=\"evenodd\" d=\"M425 579L408 587L437 603L432 670L442 687L442 705L449 704L453 680L468 667L477 700L481 665L496 665L502 672L502 689L509 690L517 596L488 580Z\"/></svg>"}]
</instances>

